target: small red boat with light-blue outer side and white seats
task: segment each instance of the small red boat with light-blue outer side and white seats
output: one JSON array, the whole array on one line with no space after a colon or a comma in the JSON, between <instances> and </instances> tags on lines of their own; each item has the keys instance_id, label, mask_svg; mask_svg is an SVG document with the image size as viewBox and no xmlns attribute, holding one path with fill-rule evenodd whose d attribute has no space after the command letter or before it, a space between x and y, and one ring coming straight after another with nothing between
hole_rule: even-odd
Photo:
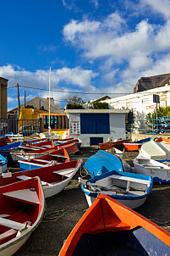
<instances>
[{"instance_id":1,"label":"small red boat with light-blue outer side and white seats","mask_svg":"<svg viewBox=\"0 0 170 256\"><path fill-rule=\"evenodd\" d=\"M69 162L69 154L65 148L61 148L36 159L23 159L19 160L18 162L20 165L20 170L32 170L52 164L67 163Z\"/></svg>"}]
</instances>

